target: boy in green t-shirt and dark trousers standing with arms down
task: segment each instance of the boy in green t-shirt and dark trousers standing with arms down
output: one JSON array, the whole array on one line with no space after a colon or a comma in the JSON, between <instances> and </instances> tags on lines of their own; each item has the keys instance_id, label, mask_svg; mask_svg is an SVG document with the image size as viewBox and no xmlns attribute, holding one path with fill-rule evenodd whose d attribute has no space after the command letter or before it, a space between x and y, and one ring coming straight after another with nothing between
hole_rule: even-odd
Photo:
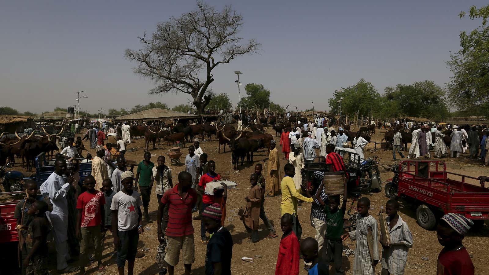
<instances>
[{"instance_id":1,"label":"boy in green t-shirt and dark trousers standing with arms down","mask_svg":"<svg viewBox=\"0 0 489 275\"><path fill-rule=\"evenodd\" d=\"M151 162L151 153L144 153L144 160L137 164L137 172L135 177L135 190L137 190L137 184L139 183L139 193L143 201L144 218L146 222L151 222L150 215L148 214L148 206L150 204L151 188L153 188L153 167L155 163Z\"/></svg>"}]
</instances>

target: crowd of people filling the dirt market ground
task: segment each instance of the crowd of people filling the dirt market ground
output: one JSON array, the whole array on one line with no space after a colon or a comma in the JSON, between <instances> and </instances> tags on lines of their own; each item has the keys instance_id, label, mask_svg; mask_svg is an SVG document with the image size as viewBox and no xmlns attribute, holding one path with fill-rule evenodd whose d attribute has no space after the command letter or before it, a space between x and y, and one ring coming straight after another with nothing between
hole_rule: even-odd
<instances>
[{"instance_id":1,"label":"crowd of people filling the dirt market ground","mask_svg":"<svg viewBox=\"0 0 489 275\"><path fill-rule=\"evenodd\" d=\"M402 275L409 249L413 246L413 235L398 213L397 201L389 200L385 205L390 237L388 244L378 231L376 218L369 213L370 200L366 197L357 202L356 229L347 231L348 225L344 220L348 199L346 178L341 196L326 194L322 182L311 186L303 184L301 175L305 164L314 158L331 165L335 172L346 172L342 156L335 153L335 147L346 147L348 138L341 127L336 134L336 129L325 126L325 122L318 118L316 123L305 124L308 136L304 139L301 128L285 129L279 143L283 157L278 153L277 142L272 140L271 151L264 160L265 173L262 173L262 163L254 166L254 173L249 175L249 192L243 199L244 207L238 213L249 234L248 242L260 242L260 220L268 230L267 238L278 237L264 205L266 198L278 196L281 198L280 228L283 234L276 275L299 274L301 259L309 275L327 275L330 265L334 266L332 274L344 274L342 253L343 242L347 239L356 243L351 269L354 275L373 275L378 263L381 263L382 275ZM99 137L96 129L95 126L90 129L92 132L88 132L89 139L93 136L97 143L94 147L96 156L91 160L91 175L86 176L82 183L77 142L69 138L66 150L56 156L54 172L39 186L41 195L38 195L36 182L25 184L27 198L19 202L15 211L21 238L22 274L47 274L46 240L49 231L54 240L59 274L77 271L84 274L92 244L97 269L104 272L102 249L104 240L108 238L107 231L113 237L119 274L125 274L126 261L127 274L133 274L139 235L144 233L144 223L151 222L148 209L152 192L156 193L158 204L156 258L160 274L175 273L181 251L184 274L190 275L195 262L193 220L200 220L200 242L207 246L205 274L231 274L233 240L224 227L227 186L225 183L214 184L224 179L217 172L216 162L208 160L209 156L200 147L200 142L195 141L188 147L185 171L178 173L178 182L174 184L172 169L165 165L164 156L158 156L155 165L151 161L151 153L145 152L134 175L133 167L128 170L126 166L125 147L121 146L127 145L122 139L123 134L117 138L123 140L122 144L117 142L118 146L114 148L111 143L104 144L106 137L102 134ZM418 149L410 150L408 156L429 154L424 146L431 144L428 138L431 135L426 131L426 127L422 127L419 132L413 132L413 137L417 137L414 146ZM103 130L98 132L104 133ZM435 137L439 136L438 132L435 132ZM399 150L397 142L400 143L394 140L394 145ZM357 135L352 143L355 151L363 156L368 142ZM472 141L469 147L470 144ZM319 157L315 149L319 151ZM284 159L286 164L282 170L280 162ZM117 165L113 164L114 160ZM285 174L283 178L282 171ZM321 172L315 173L321 178ZM298 206L306 203L311 204L311 225L315 235L303 238ZM198 214L192 217L193 212ZM471 225L470 220L455 213L441 218L437 232L444 249L438 258L437 274L474 274L471 259L462 244ZM373 242L370 241L372 239ZM76 255L79 255L78 262L71 260Z\"/></svg>"}]
</instances>

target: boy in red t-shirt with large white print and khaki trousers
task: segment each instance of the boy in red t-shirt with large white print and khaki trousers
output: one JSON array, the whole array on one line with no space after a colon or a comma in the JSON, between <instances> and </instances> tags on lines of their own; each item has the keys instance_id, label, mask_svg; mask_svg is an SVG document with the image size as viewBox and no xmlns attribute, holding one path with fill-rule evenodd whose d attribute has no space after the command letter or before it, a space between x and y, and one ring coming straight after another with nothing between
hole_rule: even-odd
<instances>
[{"instance_id":1,"label":"boy in red t-shirt with large white print and khaki trousers","mask_svg":"<svg viewBox=\"0 0 489 275\"><path fill-rule=\"evenodd\" d=\"M99 272L105 270L102 265L102 238L101 238L101 222L105 220L104 193L95 190L95 178L91 175L85 177L84 180L87 191L80 194L76 208L78 209L78 218L76 220L76 236L80 238L80 273L85 273L87 265L90 240L93 242L95 259L98 261Z\"/></svg>"}]
</instances>

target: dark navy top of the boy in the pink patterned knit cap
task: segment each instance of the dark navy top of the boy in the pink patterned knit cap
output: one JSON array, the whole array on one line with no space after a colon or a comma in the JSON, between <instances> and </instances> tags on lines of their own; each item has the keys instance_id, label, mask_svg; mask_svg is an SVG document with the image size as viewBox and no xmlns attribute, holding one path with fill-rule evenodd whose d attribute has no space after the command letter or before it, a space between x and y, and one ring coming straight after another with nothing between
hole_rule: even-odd
<instances>
[{"instance_id":1,"label":"dark navy top of the boy in the pink patterned knit cap","mask_svg":"<svg viewBox=\"0 0 489 275\"><path fill-rule=\"evenodd\" d=\"M231 275L233 239L225 228L215 232L207 243L205 254L205 274L214 275L214 263L221 263L222 275Z\"/></svg>"}]
</instances>

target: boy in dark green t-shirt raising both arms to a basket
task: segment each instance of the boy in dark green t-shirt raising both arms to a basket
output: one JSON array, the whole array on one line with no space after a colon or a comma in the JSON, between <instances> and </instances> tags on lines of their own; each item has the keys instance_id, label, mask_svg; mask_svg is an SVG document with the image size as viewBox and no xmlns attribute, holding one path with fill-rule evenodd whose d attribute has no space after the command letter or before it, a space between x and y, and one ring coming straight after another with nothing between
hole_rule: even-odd
<instances>
[{"instance_id":1,"label":"boy in dark green t-shirt raising both arms to a basket","mask_svg":"<svg viewBox=\"0 0 489 275\"><path fill-rule=\"evenodd\" d=\"M323 261L328 263L328 265L332 258L334 258L335 275L344 274L343 270L341 269L341 256L343 254L343 240L341 239L341 236L345 233L345 229L343 229L343 216L345 215L346 201L348 200L346 184L347 183L345 180L341 208L339 208L339 195L328 196L327 204L321 200L319 192L323 190L324 184L321 184L315 195L319 203L324 206L324 211L326 212L327 230L324 239L322 257ZM324 252L325 249L326 252Z\"/></svg>"}]
</instances>

